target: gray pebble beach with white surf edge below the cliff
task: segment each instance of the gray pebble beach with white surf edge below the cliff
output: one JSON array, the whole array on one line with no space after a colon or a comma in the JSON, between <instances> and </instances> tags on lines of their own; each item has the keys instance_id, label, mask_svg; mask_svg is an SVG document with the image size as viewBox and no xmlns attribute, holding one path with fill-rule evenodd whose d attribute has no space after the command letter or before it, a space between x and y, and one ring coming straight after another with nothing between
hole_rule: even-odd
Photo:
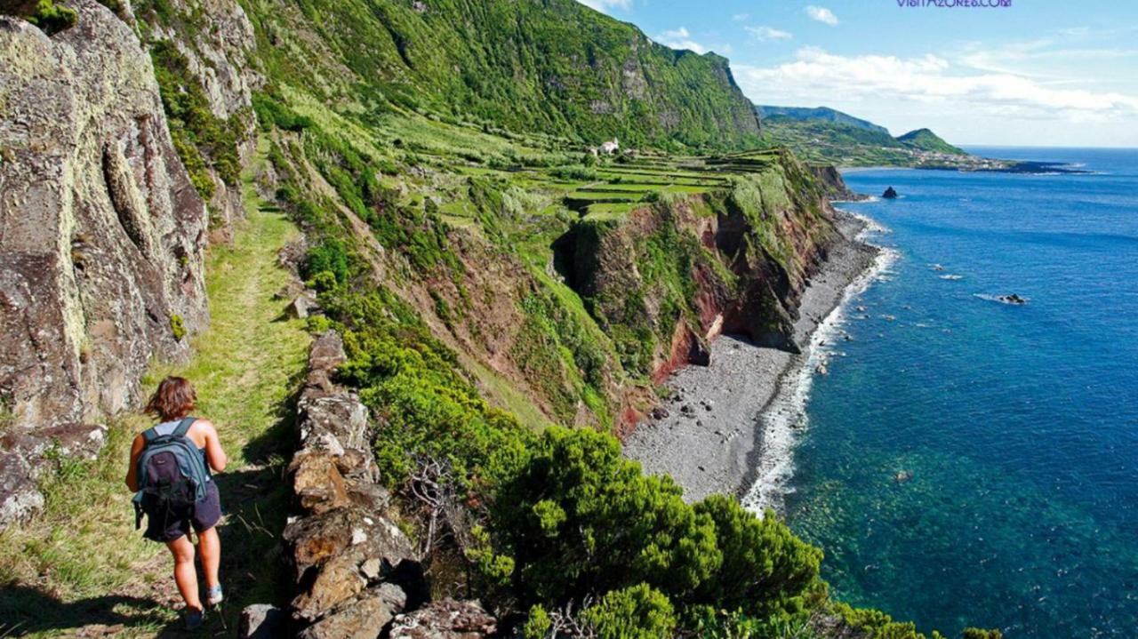
<instances>
[{"instance_id":1,"label":"gray pebble beach with white surf edge below the cliff","mask_svg":"<svg viewBox=\"0 0 1138 639\"><path fill-rule=\"evenodd\" d=\"M649 474L670 474L684 499L732 495L744 506L777 509L791 476L794 431L822 346L836 334L844 302L888 264L888 254L866 243L872 221L839 210L834 242L810 279L794 323L801 354L761 348L723 335L711 345L711 364L686 366L665 383L669 398L625 441L625 456Z\"/></svg>"}]
</instances>

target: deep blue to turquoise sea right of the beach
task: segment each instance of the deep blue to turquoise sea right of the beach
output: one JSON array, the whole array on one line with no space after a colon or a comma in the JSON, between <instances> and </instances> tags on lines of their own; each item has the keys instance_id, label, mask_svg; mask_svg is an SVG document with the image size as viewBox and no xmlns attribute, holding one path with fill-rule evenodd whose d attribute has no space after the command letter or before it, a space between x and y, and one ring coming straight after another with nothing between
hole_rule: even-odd
<instances>
[{"instance_id":1,"label":"deep blue to turquoise sea right of the beach","mask_svg":"<svg viewBox=\"0 0 1138 639\"><path fill-rule=\"evenodd\" d=\"M814 381L787 518L922 630L1138 637L1138 151L976 151L1099 173L846 175L901 193L843 205L899 258Z\"/></svg>"}]
</instances>

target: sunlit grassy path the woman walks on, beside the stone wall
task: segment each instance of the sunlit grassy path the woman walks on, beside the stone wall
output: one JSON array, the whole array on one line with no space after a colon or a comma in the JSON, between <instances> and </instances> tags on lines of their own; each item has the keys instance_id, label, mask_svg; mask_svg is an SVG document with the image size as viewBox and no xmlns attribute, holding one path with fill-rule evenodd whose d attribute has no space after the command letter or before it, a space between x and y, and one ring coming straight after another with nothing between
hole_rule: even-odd
<instances>
[{"instance_id":1,"label":"sunlit grassy path the woman walks on, beside the stone wall","mask_svg":"<svg viewBox=\"0 0 1138 639\"><path fill-rule=\"evenodd\" d=\"M300 322L282 320L284 302L272 299L289 279L277 251L296 227L261 209L248 183L245 194L248 221L232 246L209 251L212 326L193 339L197 355L185 365L155 366L145 380L146 388L166 374L192 380L197 414L217 424L230 456L217 482L229 513L221 533L231 630L245 604L279 600L289 582L275 567L282 563L271 559L288 500L288 410L308 343ZM98 460L61 463L46 480L46 512L0 534L0 636L150 636L175 621L172 604L180 599L168 554L133 530L122 483L131 440L147 425L138 415L116 420ZM213 630L220 626L215 619Z\"/></svg>"}]
</instances>

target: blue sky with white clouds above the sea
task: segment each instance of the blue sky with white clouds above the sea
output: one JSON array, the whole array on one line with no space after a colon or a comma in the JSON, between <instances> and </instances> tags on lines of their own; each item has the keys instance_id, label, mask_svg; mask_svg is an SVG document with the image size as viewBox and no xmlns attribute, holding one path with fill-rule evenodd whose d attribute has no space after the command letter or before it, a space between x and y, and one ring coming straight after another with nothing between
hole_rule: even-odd
<instances>
[{"instance_id":1,"label":"blue sky with white clouds above the sea","mask_svg":"<svg viewBox=\"0 0 1138 639\"><path fill-rule=\"evenodd\" d=\"M1131 0L580 1L729 58L760 105L832 107L955 144L1138 147Z\"/></svg>"}]
</instances>

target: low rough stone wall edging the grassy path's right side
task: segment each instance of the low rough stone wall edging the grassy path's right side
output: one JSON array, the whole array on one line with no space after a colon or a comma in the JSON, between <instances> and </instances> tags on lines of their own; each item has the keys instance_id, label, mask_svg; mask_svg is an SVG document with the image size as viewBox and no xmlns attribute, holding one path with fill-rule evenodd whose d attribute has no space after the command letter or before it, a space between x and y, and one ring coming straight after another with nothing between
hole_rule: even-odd
<instances>
[{"instance_id":1,"label":"low rough stone wall edging the grassy path's right side","mask_svg":"<svg viewBox=\"0 0 1138 639\"><path fill-rule=\"evenodd\" d=\"M299 448L289 466L298 514L284 529L296 595L287 611L247 608L242 636L486 637L495 620L477 603L429 603L414 543L379 483L368 408L332 381L344 359L336 332L318 337L298 404Z\"/></svg>"}]
</instances>

